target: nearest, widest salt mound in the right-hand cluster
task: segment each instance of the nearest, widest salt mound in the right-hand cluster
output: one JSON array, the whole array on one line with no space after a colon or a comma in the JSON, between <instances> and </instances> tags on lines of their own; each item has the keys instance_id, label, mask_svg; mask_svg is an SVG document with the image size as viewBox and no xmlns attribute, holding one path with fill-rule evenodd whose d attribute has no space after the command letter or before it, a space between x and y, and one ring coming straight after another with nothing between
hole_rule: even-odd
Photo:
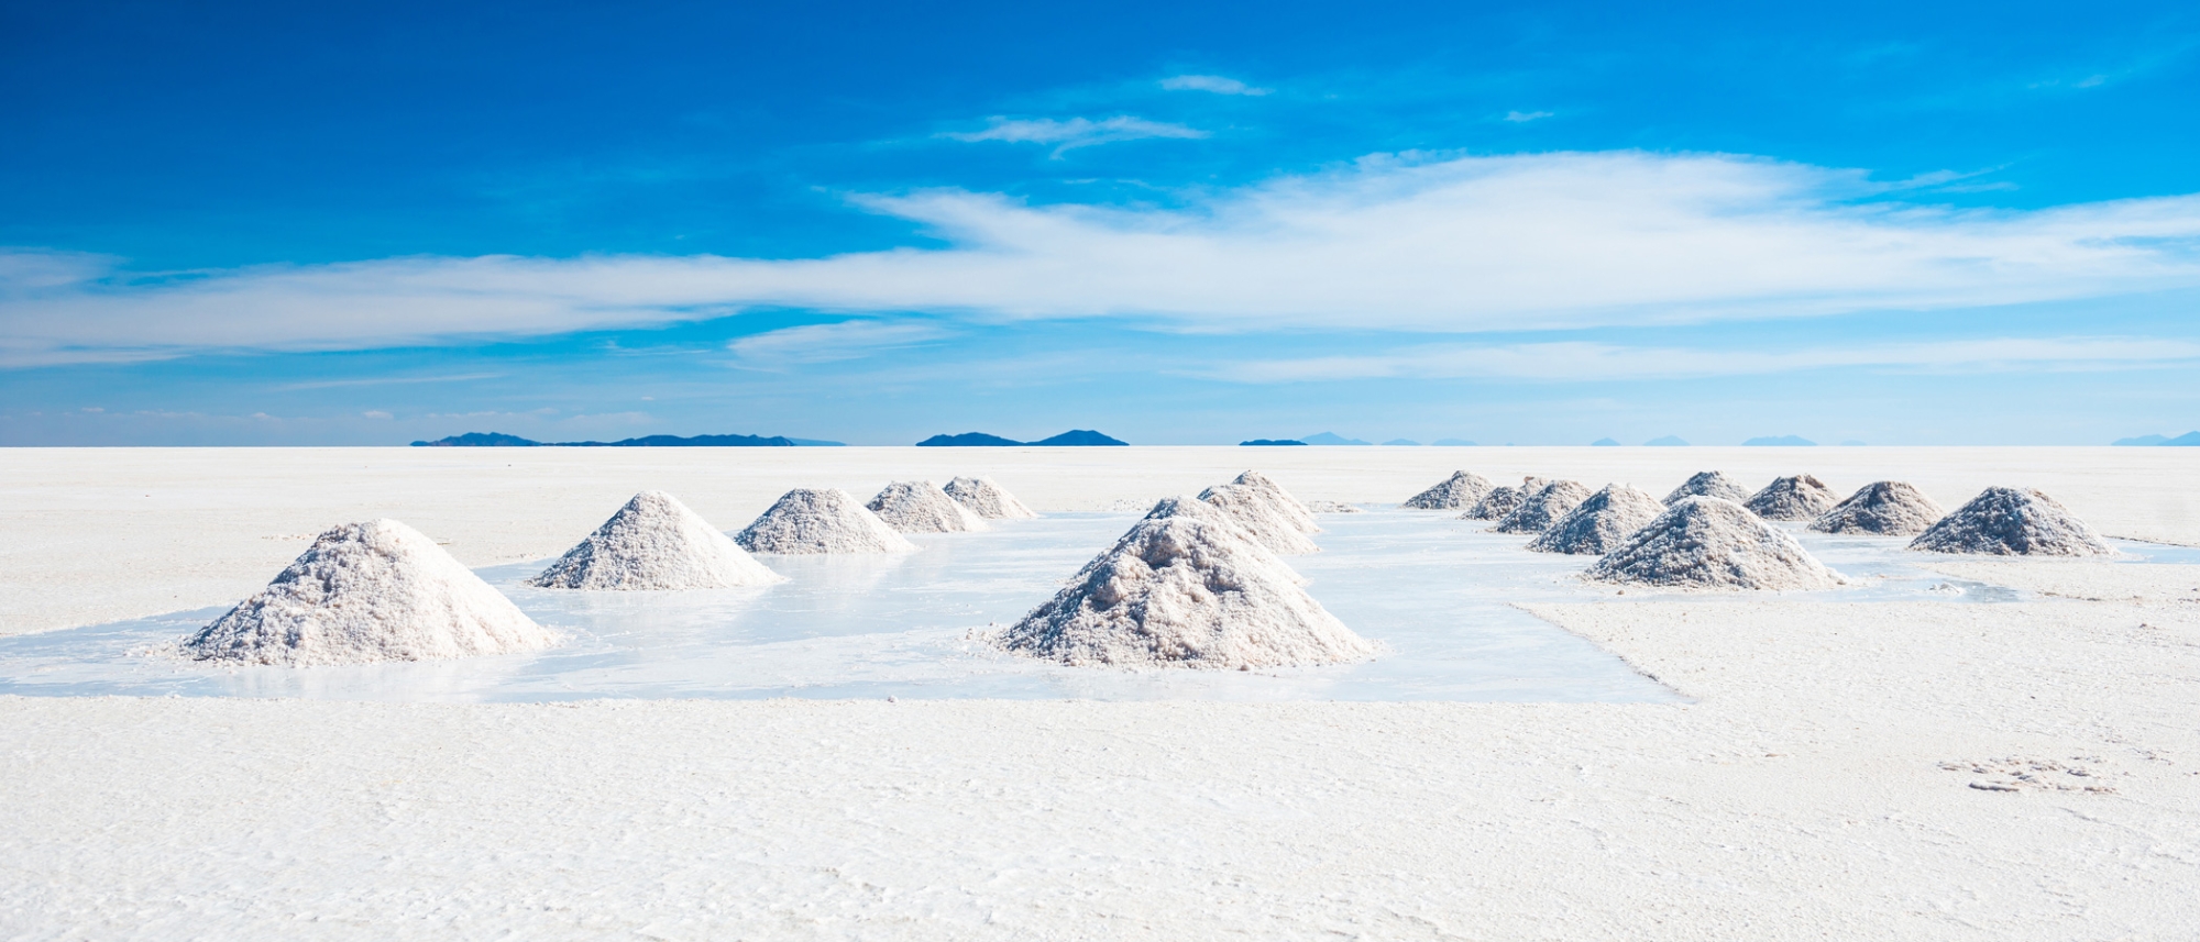
<instances>
[{"instance_id":1,"label":"nearest, widest salt mound in the right-hand cluster","mask_svg":"<svg viewBox=\"0 0 2200 942\"><path fill-rule=\"evenodd\" d=\"M1841 585L1841 574L1804 552L1795 537L1720 497L1681 497L1597 559L1582 579L1709 590Z\"/></svg>"}]
</instances>

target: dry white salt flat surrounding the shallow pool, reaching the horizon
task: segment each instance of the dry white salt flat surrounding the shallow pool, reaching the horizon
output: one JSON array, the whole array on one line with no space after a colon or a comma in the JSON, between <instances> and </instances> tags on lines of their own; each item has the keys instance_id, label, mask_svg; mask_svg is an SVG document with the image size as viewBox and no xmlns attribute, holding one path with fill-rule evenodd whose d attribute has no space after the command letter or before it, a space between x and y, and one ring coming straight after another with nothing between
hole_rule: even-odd
<instances>
[{"instance_id":1,"label":"dry white salt flat surrounding the shallow pool, reaching the horizon","mask_svg":"<svg viewBox=\"0 0 2200 942\"><path fill-rule=\"evenodd\" d=\"M2055 493L2200 544L2174 449L20 451L9 629L233 601L334 519L471 566L645 486L992 473L1100 511L1258 464L1397 502L1454 467ZM275 539L268 539L275 537ZM2200 568L1934 561L2022 601L1531 603L1628 704L374 704L0 698L22 938L2185 938Z\"/></svg>"}]
</instances>

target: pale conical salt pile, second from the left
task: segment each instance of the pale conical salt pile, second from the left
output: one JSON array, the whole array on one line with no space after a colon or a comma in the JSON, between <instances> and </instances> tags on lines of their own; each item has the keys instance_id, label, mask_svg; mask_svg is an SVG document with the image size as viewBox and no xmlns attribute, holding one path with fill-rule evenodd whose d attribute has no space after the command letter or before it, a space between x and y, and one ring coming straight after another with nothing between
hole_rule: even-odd
<instances>
[{"instance_id":1,"label":"pale conical salt pile, second from the left","mask_svg":"<svg viewBox=\"0 0 2200 942\"><path fill-rule=\"evenodd\" d=\"M783 581L673 495L642 491L528 585L695 590Z\"/></svg>"}]
</instances>

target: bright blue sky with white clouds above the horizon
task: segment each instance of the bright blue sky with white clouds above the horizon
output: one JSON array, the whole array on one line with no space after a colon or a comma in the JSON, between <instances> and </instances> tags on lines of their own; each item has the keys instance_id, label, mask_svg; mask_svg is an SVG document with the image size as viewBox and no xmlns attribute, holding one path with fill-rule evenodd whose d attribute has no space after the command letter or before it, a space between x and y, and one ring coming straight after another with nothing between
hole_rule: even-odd
<instances>
[{"instance_id":1,"label":"bright blue sky with white clouds above the horizon","mask_svg":"<svg viewBox=\"0 0 2200 942\"><path fill-rule=\"evenodd\" d=\"M0 442L2178 434L2193 101L2189 4L7 2Z\"/></svg>"}]
</instances>

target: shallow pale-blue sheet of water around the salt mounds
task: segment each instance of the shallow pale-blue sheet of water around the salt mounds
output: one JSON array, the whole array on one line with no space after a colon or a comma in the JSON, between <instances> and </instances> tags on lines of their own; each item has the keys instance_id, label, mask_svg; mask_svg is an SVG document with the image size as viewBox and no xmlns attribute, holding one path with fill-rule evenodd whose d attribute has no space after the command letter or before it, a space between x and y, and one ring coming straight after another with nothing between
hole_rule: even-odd
<instances>
[{"instance_id":1,"label":"shallow pale-blue sheet of water around the salt mounds","mask_svg":"<svg viewBox=\"0 0 2200 942\"><path fill-rule=\"evenodd\" d=\"M420 702L576 698L1091 698L1091 700L1516 700L1676 702L1599 647L1514 603L1947 601L2022 594L1925 572L1903 537L1828 537L1791 526L1855 585L1826 592L1659 592L1584 585L1595 557L1527 552L1450 513L1322 515L1320 555L1287 561L1366 638L1371 662L1217 673L1093 671L992 651L970 638L1045 601L1137 515L1065 513L990 533L913 537L893 557L759 557L783 585L697 592L570 592L521 581L546 561L480 570L568 643L539 654L370 667L207 667L134 656L224 610L176 612L0 638L0 693L255 695ZM2116 541L2130 563L2200 563L2200 550Z\"/></svg>"}]
</instances>

